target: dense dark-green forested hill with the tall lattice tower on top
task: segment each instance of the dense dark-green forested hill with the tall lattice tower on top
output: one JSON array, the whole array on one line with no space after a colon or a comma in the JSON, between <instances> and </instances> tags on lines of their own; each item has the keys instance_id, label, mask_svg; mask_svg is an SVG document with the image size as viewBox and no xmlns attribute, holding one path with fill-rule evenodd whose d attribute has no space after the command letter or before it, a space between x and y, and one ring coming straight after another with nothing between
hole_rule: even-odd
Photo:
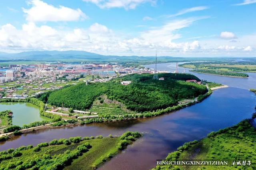
<instances>
[{"instance_id":1,"label":"dense dark-green forested hill with the tall lattice tower on top","mask_svg":"<svg viewBox=\"0 0 256 170\"><path fill-rule=\"evenodd\" d=\"M185 80L199 80L191 74L159 74L165 80L152 80L152 74L131 74L115 78L110 82L77 84L52 92L48 96L48 103L55 106L72 107L74 109L88 109L93 101L105 94L111 100L123 103L127 109L133 111L153 111L178 104L178 101L194 98L207 92L206 86ZM132 81L128 86L121 85L121 81Z\"/></svg>"}]
</instances>

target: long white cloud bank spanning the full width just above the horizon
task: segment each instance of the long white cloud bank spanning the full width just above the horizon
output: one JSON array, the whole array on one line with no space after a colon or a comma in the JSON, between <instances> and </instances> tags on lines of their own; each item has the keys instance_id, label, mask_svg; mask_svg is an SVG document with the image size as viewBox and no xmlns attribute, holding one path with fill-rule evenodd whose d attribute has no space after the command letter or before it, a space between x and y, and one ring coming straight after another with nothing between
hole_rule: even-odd
<instances>
[{"instance_id":1,"label":"long white cloud bank spanning the full width just above the horizon","mask_svg":"<svg viewBox=\"0 0 256 170\"><path fill-rule=\"evenodd\" d=\"M168 21L151 27L137 36L114 32L105 25L94 23L90 27L73 30L55 29L48 25L37 26L29 22L18 29L10 23L0 27L0 49L6 52L32 50L83 50L103 55L233 55L254 54L256 35L241 36L232 43L226 39L208 37L200 41L177 41L178 32L203 18L186 18ZM251 51L246 53L246 51Z\"/></svg>"}]
</instances>

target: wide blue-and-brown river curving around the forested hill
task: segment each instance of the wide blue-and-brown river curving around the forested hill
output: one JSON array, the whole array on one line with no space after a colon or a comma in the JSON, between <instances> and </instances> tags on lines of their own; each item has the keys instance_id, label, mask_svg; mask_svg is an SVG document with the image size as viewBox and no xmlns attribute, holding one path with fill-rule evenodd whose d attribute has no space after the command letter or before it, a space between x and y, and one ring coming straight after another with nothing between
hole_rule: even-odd
<instances>
[{"instance_id":1,"label":"wide blue-and-brown river curving around the forested hill","mask_svg":"<svg viewBox=\"0 0 256 170\"><path fill-rule=\"evenodd\" d=\"M175 70L175 63L158 64L158 69L174 71L173 66ZM256 88L256 74L249 74L249 78L233 78L191 73L200 79L220 82L230 87L214 90L203 102L169 114L129 121L42 129L2 142L0 150L73 136L121 135L125 131L139 131L144 134L141 139L99 169L147 170L155 166L156 159L165 158L183 143L202 139L211 131L230 127L251 117L256 96L248 89Z\"/></svg>"}]
</instances>

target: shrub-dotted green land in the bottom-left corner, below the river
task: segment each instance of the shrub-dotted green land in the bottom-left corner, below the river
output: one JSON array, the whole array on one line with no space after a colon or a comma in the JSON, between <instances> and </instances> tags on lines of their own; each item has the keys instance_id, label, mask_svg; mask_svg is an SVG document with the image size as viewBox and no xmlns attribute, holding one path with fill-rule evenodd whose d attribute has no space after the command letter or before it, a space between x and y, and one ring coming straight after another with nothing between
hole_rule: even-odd
<instances>
[{"instance_id":1,"label":"shrub-dotted green land in the bottom-left corner, below the river","mask_svg":"<svg viewBox=\"0 0 256 170\"><path fill-rule=\"evenodd\" d=\"M0 152L0 169L91 170L110 160L127 145L141 137L126 132L120 137L70 137Z\"/></svg>"}]
</instances>

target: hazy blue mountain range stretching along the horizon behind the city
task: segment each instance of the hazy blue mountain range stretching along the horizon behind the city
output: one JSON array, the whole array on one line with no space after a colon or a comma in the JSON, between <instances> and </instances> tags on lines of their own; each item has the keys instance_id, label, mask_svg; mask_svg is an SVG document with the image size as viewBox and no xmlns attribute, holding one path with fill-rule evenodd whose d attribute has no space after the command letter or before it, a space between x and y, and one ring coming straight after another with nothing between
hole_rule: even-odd
<instances>
[{"instance_id":1,"label":"hazy blue mountain range stretching along the horizon behind the city","mask_svg":"<svg viewBox=\"0 0 256 170\"><path fill-rule=\"evenodd\" d=\"M159 56L158 63L188 62L188 61L236 61L232 57L170 57ZM253 59L254 60L254 59ZM30 61L34 62L96 62L96 63L140 63L154 64L155 56L116 56L100 55L87 51L24 51L21 53L0 52L0 65L3 62Z\"/></svg>"}]
</instances>

